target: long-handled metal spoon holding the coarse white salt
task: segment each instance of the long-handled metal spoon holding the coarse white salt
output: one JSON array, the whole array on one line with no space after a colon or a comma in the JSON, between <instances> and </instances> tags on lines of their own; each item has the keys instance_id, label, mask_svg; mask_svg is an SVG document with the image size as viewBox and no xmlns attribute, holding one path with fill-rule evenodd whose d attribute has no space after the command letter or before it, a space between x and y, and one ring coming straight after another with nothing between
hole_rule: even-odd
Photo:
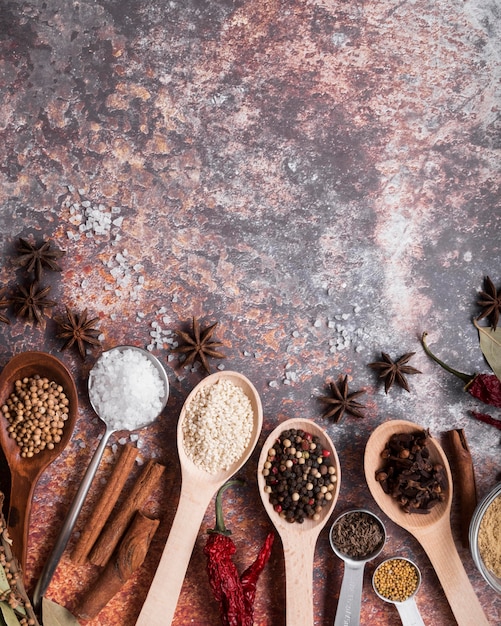
<instances>
[{"instance_id":1,"label":"long-handled metal spoon holding the coarse white salt","mask_svg":"<svg viewBox=\"0 0 501 626\"><path fill-rule=\"evenodd\" d=\"M153 366L156 368L157 372L160 375L160 378L162 379L164 383L164 395L161 398L161 408L160 408L160 411L158 412L159 414L163 411L163 409L165 408L165 405L167 404L167 400L169 398L169 380L167 378L167 374L161 362L147 350L143 350L142 348L137 348L135 346L117 346L115 348L111 348L111 350L107 350L106 352L103 352L103 354L96 361L93 369L90 371L90 374L89 374L89 381L88 381L89 400L97 416L106 426L106 430L101 438L101 441L99 442L99 445L96 448L96 451L94 452L94 456L92 457L91 462L89 463L89 466L87 467L85 475L82 479L82 482L80 483L80 487L78 488L78 491L70 506L70 509L68 513L66 514L66 519L64 521L63 527L59 534L58 540L54 548L52 549L52 553L42 570L40 578L38 579L37 585L33 592L33 606L35 607L36 611L39 611L40 609L42 597L47 591L47 588L50 584L50 581L52 580L52 576L54 575L54 572L56 571L56 568L59 564L61 556L63 555L63 552L66 549L71 533L73 531L73 527L75 526L75 522L77 521L77 518L80 514L83 503L85 501L85 498L87 497L87 493L89 492L91 483L99 467L99 463L101 462L102 456L104 454L104 450L106 448L106 444L108 443L110 436L114 432L116 432L116 429L110 426L109 424L107 424L103 416L99 415L98 411L96 410L96 406L92 400L92 393L91 393L92 373L95 370L98 363L100 362L100 360L105 358L105 355L107 354L109 355L109 353L113 351L126 351L126 350L137 351L143 354L153 364ZM123 392L124 394L126 394L127 389L124 389ZM145 426L149 426L149 424L151 424L157 417L158 415L155 415L153 419L150 419L148 421L145 421L144 423L138 424L138 427L136 430L140 430L141 428L144 428Z\"/></svg>"}]
</instances>

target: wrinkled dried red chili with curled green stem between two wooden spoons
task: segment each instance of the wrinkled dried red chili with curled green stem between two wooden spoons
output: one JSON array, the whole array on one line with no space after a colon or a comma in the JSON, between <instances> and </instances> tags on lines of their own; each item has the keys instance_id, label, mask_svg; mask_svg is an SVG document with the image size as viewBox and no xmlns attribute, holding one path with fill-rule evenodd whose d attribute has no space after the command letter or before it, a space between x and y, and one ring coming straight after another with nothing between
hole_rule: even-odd
<instances>
[{"instance_id":1,"label":"wrinkled dried red chili with curled green stem between two wooden spoons","mask_svg":"<svg viewBox=\"0 0 501 626\"><path fill-rule=\"evenodd\" d=\"M232 556L236 552L230 539L231 530L224 524L222 495L228 487L242 484L239 480L225 483L216 495L216 526L207 531L209 539L204 547L207 557L207 572L214 598L219 602L223 626L252 626L254 623L254 600L257 582L268 562L273 540L269 533L259 554L240 576Z\"/></svg>"}]
</instances>

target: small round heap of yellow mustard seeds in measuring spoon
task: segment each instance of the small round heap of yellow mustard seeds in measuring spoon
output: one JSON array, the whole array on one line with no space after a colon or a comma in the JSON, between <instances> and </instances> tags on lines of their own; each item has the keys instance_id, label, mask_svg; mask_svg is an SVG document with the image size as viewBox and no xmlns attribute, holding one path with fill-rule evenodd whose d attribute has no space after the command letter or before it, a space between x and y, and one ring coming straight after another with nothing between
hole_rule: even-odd
<instances>
[{"instance_id":1,"label":"small round heap of yellow mustard seeds in measuring spoon","mask_svg":"<svg viewBox=\"0 0 501 626\"><path fill-rule=\"evenodd\" d=\"M419 587L419 572L407 559L389 559L374 572L374 589L390 602L405 602Z\"/></svg>"}]
</instances>

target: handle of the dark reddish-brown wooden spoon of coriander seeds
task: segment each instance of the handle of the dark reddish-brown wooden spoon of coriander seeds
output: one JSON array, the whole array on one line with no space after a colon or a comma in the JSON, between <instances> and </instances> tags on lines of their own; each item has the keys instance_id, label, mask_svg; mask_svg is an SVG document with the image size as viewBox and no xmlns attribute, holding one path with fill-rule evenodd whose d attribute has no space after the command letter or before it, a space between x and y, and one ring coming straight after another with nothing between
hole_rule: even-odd
<instances>
[{"instance_id":1,"label":"handle of the dark reddish-brown wooden spoon of coriander seeds","mask_svg":"<svg viewBox=\"0 0 501 626\"><path fill-rule=\"evenodd\" d=\"M12 552L23 572L26 571L28 530L35 484L36 481L32 482L21 474L12 474L7 528L12 539Z\"/></svg>"}]
</instances>

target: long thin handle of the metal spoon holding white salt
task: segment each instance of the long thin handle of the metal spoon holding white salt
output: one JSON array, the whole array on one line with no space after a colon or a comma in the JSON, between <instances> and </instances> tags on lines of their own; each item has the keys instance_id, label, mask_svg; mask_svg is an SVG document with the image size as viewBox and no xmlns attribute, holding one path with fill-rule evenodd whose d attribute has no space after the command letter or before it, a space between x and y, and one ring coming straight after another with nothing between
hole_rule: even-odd
<instances>
[{"instance_id":1,"label":"long thin handle of the metal spoon holding white salt","mask_svg":"<svg viewBox=\"0 0 501 626\"><path fill-rule=\"evenodd\" d=\"M97 468L99 467L99 463L101 462L104 450L106 448L106 444L108 442L108 439L110 438L111 433L112 431L107 428L101 441L99 442L99 445L94 452L94 456L92 457L92 460L87 467L82 482L80 483L80 487L78 488L75 498L73 499L68 513L66 514L66 519L64 520L56 544L52 549L52 553L49 559L46 561L42 573L40 574L40 578L38 579L38 582L36 584L35 591L33 592L33 606L35 607L35 611L39 612L42 598L47 591L50 581L52 580L52 576L54 575L54 572L56 571L59 561L61 560L63 552L66 549L71 533L75 526L75 522L77 521L78 515L82 510L82 505L85 501L85 498L87 497L87 493L89 492L92 480L96 475Z\"/></svg>"}]
</instances>

